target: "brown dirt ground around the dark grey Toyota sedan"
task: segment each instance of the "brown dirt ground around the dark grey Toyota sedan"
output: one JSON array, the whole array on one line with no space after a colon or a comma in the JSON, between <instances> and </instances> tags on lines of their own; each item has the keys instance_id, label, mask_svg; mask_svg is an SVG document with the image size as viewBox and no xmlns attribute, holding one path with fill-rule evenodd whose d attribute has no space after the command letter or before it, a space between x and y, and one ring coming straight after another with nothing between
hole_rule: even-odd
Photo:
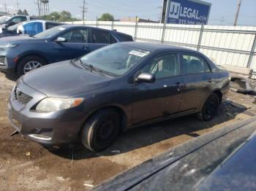
<instances>
[{"instance_id":1,"label":"brown dirt ground around the dark grey Toyota sedan","mask_svg":"<svg viewBox=\"0 0 256 191\"><path fill-rule=\"evenodd\" d=\"M91 190L177 144L256 114L255 98L230 92L211 122L181 117L122 133L104 152L82 147L45 149L13 132L7 99L15 84L0 74L0 190ZM243 106L244 105L244 106ZM120 152L120 153L119 153Z\"/></svg>"}]
</instances>

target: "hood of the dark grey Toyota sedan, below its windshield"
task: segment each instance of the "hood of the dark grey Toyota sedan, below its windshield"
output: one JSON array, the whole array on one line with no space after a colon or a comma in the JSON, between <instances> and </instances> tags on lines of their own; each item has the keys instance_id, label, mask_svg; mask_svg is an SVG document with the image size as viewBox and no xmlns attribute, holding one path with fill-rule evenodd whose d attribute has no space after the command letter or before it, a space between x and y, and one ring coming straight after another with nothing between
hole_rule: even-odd
<instances>
[{"instance_id":1,"label":"hood of the dark grey Toyota sedan, below its windshield","mask_svg":"<svg viewBox=\"0 0 256 191\"><path fill-rule=\"evenodd\" d=\"M22 80L49 97L69 97L106 87L112 78L99 76L70 61L63 61L30 71Z\"/></svg>"}]
</instances>

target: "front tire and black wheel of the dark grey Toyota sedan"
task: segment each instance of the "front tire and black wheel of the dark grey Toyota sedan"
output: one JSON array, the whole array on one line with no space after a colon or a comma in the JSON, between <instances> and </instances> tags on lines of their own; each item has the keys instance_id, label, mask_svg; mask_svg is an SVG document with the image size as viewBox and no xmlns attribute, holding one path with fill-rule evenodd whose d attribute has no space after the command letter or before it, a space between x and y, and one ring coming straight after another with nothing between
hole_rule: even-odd
<instances>
[{"instance_id":1,"label":"front tire and black wheel of the dark grey Toyota sedan","mask_svg":"<svg viewBox=\"0 0 256 191\"><path fill-rule=\"evenodd\" d=\"M84 147L99 152L113 143L120 128L120 117L113 109L102 109L86 120L80 131Z\"/></svg>"}]
</instances>

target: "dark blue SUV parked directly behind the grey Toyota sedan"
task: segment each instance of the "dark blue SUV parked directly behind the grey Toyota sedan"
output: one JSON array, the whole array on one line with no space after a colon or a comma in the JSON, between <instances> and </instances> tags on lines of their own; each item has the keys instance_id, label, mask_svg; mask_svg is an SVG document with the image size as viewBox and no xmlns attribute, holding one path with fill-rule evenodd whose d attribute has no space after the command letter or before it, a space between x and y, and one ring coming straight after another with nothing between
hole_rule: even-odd
<instances>
[{"instance_id":1,"label":"dark blue SUV parked directly behind the grey Toyota sedan","mask_svg":"<svg viewBox=\"0 0 256 191\"><path fill-rule=\"evenodd\" d=\"M132 36L87 26L64 25L35 36L0 39L0 71L21 76L48 63L78 58L108 44L132 41Z\"/></svg>"}]
</instances>

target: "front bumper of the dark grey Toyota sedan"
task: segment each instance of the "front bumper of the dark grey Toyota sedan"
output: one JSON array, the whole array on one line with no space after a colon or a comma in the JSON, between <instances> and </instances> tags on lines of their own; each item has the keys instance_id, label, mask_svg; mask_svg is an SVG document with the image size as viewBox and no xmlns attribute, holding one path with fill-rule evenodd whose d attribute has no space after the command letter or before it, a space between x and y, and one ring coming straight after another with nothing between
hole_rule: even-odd
<instances>
[{"instance_id":1,"label":"front bumper of the dark grey Toyota sedan","mask_svg":"<svg viewBox=\"0 0 256 191\"><path fill-rule=\"evenodd\" d=\"M23 93L32 97L27 104L20 104L12 91L8 102L10 123L20 134L48 146L69 144L78 141L79 131L83 124L82 109L72 108L57 112L36 112L31 110L35 104L46 97L31 87L18 83Z\"/></svg>"}]
</instances>

